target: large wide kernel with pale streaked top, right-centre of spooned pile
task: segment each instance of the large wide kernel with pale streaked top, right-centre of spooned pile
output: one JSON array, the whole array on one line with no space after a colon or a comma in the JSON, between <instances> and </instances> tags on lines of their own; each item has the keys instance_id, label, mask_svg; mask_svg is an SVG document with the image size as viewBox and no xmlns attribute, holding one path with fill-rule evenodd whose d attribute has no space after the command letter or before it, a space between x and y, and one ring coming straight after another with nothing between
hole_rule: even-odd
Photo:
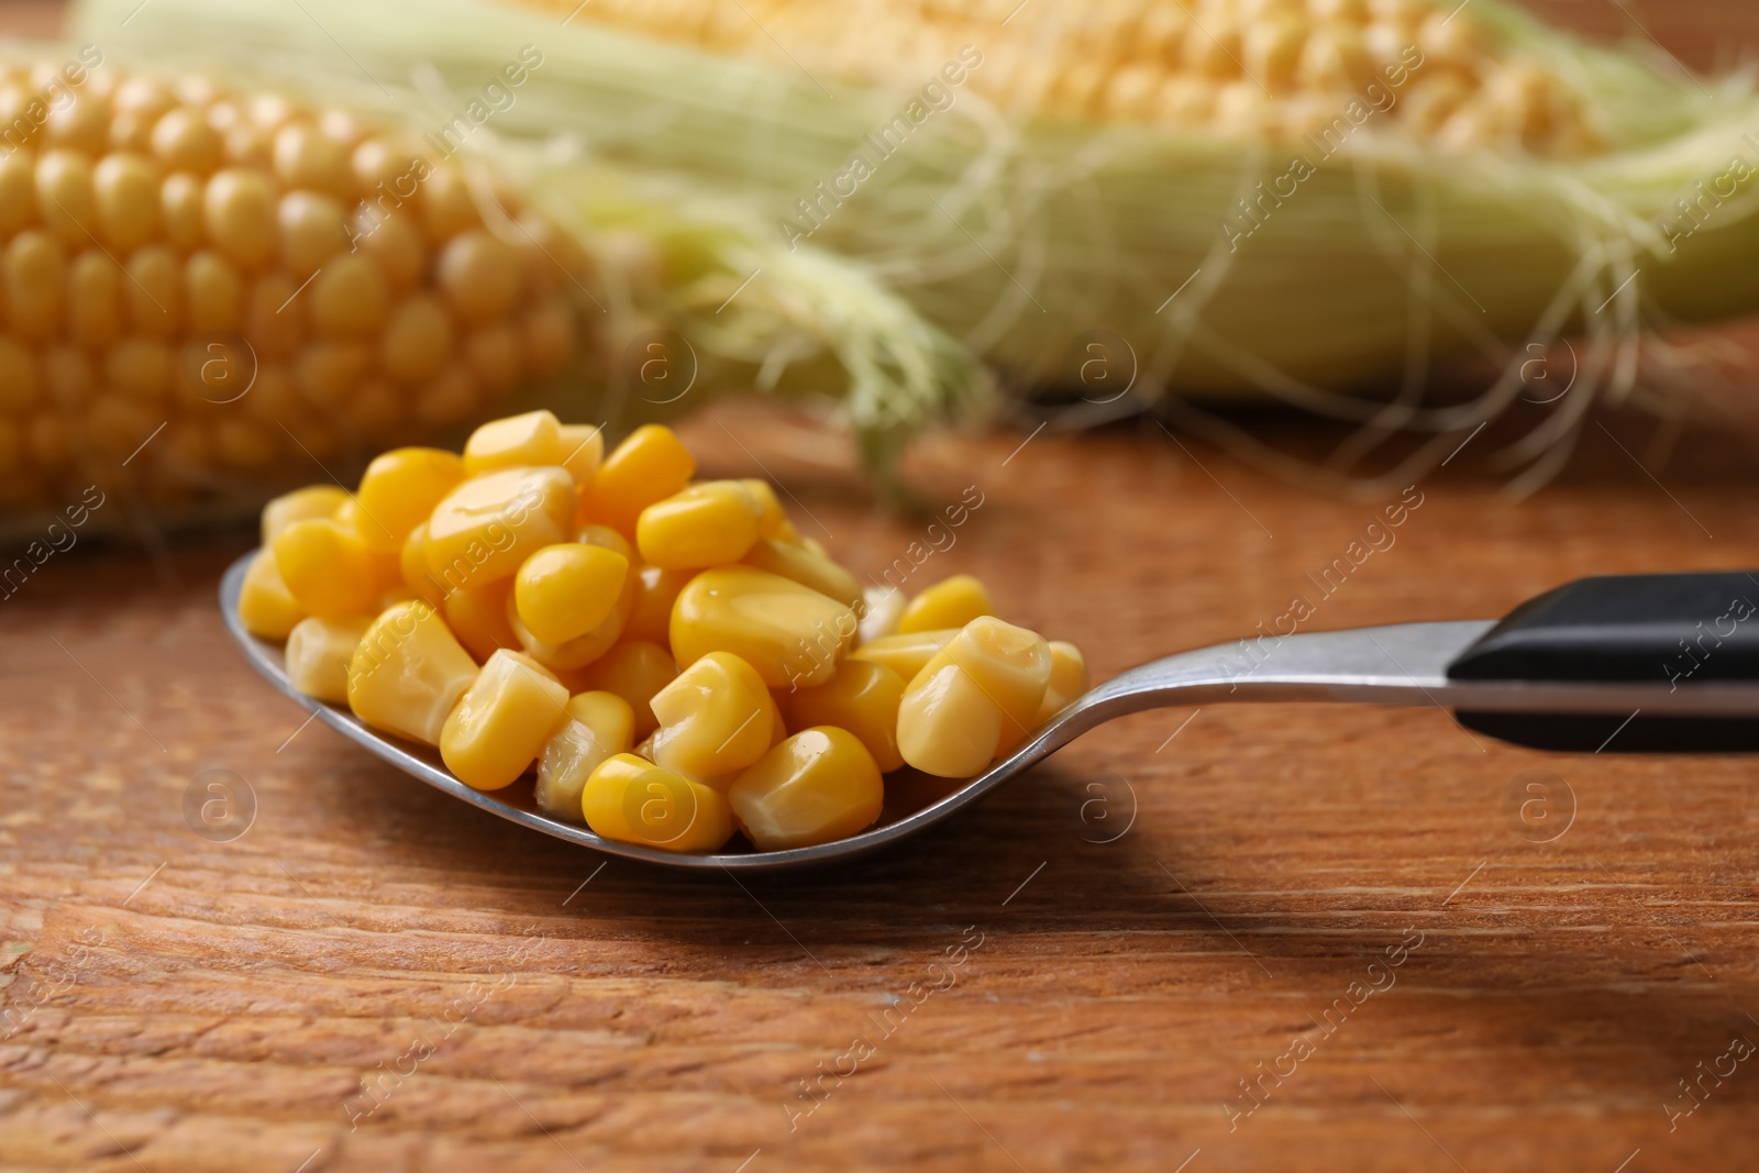
<instances>
[{"instance_id":1,"label":"large wide kernel with pale streaked top, right-centre of spooned pile","mask_svg":"<svg viewBox=\"0 0 1759 1173\"><path fill-rule=\"evenodd\" d=\"M769 688L813 688L837 670L855 626L853 608L811 587L751 566L721 566L679 591L668 631L681 665L734 652Z\"/></svg>"}]
</instances>

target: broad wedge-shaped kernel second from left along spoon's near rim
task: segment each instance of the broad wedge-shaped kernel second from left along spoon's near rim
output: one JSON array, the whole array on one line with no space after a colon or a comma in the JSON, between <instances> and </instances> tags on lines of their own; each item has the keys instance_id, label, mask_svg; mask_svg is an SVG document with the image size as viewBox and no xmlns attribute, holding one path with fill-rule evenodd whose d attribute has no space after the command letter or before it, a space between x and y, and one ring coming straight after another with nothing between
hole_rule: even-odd
<instances>
[{"instance_id":1,"label":"broad wedge-shaped kernel second from left along spoon's near rim","mask_svg":"<svg viewBox=\"0 0 1759 1173\"><path fill-rule=\"evenodd\" d=\"M477 681L477 661L420 600L380 612L348 661L348 707L389 733L438 746L447 716Z\"/></svg>"}]
</instances>

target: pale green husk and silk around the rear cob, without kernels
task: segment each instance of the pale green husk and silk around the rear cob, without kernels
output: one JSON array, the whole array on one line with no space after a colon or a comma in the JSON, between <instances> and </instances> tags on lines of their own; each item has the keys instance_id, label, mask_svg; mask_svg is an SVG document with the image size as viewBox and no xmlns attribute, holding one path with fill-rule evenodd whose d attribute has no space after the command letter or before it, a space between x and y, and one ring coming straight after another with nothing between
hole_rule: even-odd
<instances>
[{"instance_id":1,"label":"pale green husk and silk around the rear cob, without kernels","mask_svg":"<svg viewBox=\"0 0 1759 1173\"><path fill-rule=\"evenodd\" d=\"M132 5L88 0L79 23L109 35ZM1662 223L1675 199L1736 151L1759 164L1759 146L1741 137L1759 128L1759 98L1745 76L1699 81L1587 46L1497 0L1476 0L1462 19L1558 74L1608 149L1583 160L1442 153L1370 123L1231 246L1221 218L1282 174L1296 144L1024 121L967 91L811 246L857 260L1022 387L1080 392L1091 343L1120 338L1129 353L1112 359L1128 359L1131 390L1092 396L1084 417L1161 403L1201 424L1166 392L1270 394L1358 420L1372 436L1435 433L1414 461L1513 403L1529 346L1581 334L1581 394L1514 454L1543 475L1595 397L1638 387L1650 327L1759 306L1750 193L1678 251ZM732 60L593 25L589 11L563 23L487 0L155 0L125 35L155 56L220 42L253 69L313 84L398 84L433 70L454 93L536 44L545 63L494 116L498 134L559 135L642 183L712 193L755 244L783 248L795 202L839 172L911 90ZM1435 368L1467 355L1504 376L1471 403L1425 406ZM1353 394L1388 385L1398 387L1391 404ZM858 413L883 410L887 394ZM902 431L922 419L913 406L895 415Z\"/></svg>"}]
</instances>

